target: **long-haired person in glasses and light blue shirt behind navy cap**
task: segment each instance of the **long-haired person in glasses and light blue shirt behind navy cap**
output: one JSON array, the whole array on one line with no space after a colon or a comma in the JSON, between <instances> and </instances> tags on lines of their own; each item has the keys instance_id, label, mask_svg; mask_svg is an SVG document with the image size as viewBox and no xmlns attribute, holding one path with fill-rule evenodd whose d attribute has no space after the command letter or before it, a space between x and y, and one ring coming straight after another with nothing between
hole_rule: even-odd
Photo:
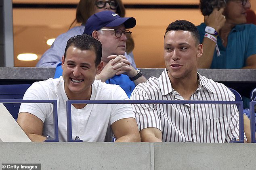
<instances>
[{"instance_id":1,"label":"long-haired person in glasses and light blue shirt behind navy cap","mask_svg":"<svg viewBox=\"0 0 256 170\"><path fill-rule=\"evenodd\" d=\"M103 10L111 10L121 17L125 16L125 8L121 0L80 0L76 8L76 19L71 26L74 23L82 23L82 25L73 27L66 33L59 35L50 49L42 55L36 67L57 67L57 65L61 63L61 57L64 55L67 40L75 35L83 34L84 24L87 19L92 14ZM127 44L130 44L127 49L130 49L129 52L131 52L134 49L134 43L131 40L130 42L127 42ZM132 53L130 55L132 55ZM127 55L127 53L125 54L126 58L132 63L131 65L136 68L133 55L130 55Z\"/></svg>"}]
</instances>

